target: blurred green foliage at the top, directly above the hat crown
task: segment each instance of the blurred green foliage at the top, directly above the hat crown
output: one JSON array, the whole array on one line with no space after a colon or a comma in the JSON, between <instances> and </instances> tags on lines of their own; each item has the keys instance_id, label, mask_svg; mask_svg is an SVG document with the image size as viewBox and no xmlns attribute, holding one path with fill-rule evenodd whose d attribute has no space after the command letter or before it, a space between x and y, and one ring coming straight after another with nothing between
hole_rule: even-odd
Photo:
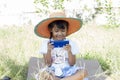
<instances>
[{"instance_id":1,"label":"blurred green foliage at the top, directly above the hat crown","mask_svg":"<svg viewBox=\"0 0 120 80\"><path fill-rule=\"evenodd\" d=\"M36 4L37 12L48 14L51 9L63 9L63 1L64 0L34 0L34 3Z\"/></svg>"}]
</instances>

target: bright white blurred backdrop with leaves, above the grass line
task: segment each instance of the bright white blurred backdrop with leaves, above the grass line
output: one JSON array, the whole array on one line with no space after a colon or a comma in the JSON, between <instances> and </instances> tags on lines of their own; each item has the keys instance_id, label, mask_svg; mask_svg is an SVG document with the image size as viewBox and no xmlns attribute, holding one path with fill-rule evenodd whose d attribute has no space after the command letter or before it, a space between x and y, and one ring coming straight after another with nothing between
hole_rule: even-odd
<instances>
[{"instance_id":1,"label":"bright white blurred backdrop with leaves, above the grass line","mask_svg":"<svg viewBox=\"0 0 120 80\"><path fill-rule=\"evenodd\" d=\"M119 0L0 0L0 25L36 24L52 10L64 10L67 16L118 27ZM114 22L113 22L114 21Z\"/></svg>"}]
</instances>

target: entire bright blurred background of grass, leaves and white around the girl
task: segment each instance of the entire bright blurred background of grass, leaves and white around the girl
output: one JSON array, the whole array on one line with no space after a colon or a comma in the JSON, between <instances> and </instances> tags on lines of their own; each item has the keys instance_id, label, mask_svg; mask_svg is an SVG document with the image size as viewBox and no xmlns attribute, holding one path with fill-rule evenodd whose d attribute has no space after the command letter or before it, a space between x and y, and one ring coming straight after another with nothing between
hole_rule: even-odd
<instances>
[{"instance_id":1,"label":"entire bright blurred background of grass, leaves and white around the girl","mask_svg":"<svg viewBox=\"0 0 120 80\"><path fill-rule=\"evenodd\" d=\"M120 0L0 0L0 79L26 80L30 57L42 57L44 39L34 27L53 10L82 19L82 28L68 36L80 47L77 57L98 60L106 80L119 80Z\"/></svg>"}]
</instances>

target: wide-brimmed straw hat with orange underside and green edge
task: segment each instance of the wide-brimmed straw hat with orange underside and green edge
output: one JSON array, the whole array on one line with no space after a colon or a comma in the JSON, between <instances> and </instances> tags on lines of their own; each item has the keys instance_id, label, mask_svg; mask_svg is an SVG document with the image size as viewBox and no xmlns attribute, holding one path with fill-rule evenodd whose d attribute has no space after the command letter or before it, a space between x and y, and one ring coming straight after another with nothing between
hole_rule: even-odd
<instances>
[{"instance_id":1,"label":"wide-brimmed straw hat with orange underside and green edge","mask_svg":"<svg viewBox=\"0 0 120 80\"><path fill-rule=\"evenodd\" d=\"M82 26L81 19L66 17L65 12L53 12L50 14L49 18L42 20L35 26L35 33L39 37L49 38L50 31L48 25L55 20L64 20L69 23L67 36L78 31Z\"/></svg>"}]
</instances>

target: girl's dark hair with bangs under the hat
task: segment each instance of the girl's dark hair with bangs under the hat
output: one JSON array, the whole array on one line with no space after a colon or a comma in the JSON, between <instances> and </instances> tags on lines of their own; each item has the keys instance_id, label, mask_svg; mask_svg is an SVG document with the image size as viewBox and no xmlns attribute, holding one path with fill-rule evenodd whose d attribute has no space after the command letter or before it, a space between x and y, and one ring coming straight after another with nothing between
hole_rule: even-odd
<instances>
[{"instance_id":1,"label":"girl's dark hair with bangs under the hat","mask_svg":"<svg viewBox=\"0 0 120 80\"><path fill-rule=\"evenodd\" d=\"M48 29L49 29L49 31L50 31L50 39L52 38L52 32L51 32L51 30L52 30L52 28L53 28L55 25L56 25L57 28L59 28L59 29L65 29L65 27L66 27L67 30L68 30L69 23L68 23L67 21L64 21L64 20L55 20L55 21L51 22L51 23L48 25Z\"/></svg>"}]
</instances>

